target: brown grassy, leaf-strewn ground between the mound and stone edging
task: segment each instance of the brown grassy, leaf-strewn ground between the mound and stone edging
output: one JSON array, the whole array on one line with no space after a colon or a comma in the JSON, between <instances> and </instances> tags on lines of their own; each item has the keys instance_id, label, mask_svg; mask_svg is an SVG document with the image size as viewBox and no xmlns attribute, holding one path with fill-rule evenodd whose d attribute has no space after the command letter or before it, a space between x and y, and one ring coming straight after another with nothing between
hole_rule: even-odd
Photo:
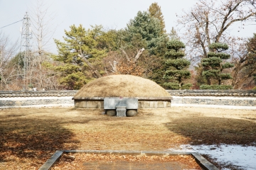
<instances>
[{"instance_id":1,"label":"brown grassy, leaf-strewn ground between the mound and stone edging","mask_svg":"<svg viewBox=\"0 0 256 170\"><path fill-rule=\"evenodd\" d=\"M256 145L256 111L214 108L0 110L0 169L38 169L58 149L164 151L179 145Z\"/></svg>"}]
</instances>

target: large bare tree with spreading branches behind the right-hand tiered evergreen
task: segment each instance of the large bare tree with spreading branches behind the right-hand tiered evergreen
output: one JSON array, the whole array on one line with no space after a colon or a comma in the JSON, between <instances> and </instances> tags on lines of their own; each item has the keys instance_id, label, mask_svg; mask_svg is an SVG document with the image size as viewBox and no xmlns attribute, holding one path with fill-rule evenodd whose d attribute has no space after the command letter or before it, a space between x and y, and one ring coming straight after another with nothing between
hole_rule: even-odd
<instances>
[{"instance_id":1,"label":"large bare tree with spreading branches behind the right-hand tiered evergreen","mask_svg":"<svg viewBox=\"0 0 256 170\"><path fill-rule=\"evenodd\" d=\"M255 10L243 0L198 0L190 11L178 16L178 24L186 29L184 39L190 47L188 55L198 61L207 57L212 42L236 43L230 28L236 22L250 22Z\"/></svg>"}]
</instances>

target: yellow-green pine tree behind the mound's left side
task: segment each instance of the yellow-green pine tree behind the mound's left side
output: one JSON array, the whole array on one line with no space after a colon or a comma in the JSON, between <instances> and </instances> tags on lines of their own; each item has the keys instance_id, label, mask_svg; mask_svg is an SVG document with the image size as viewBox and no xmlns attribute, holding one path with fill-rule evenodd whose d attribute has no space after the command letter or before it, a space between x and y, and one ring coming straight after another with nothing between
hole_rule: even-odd
<instances>
[{"instance_id":1,"label":"yellow-green pine tree behind the mound's left side","mask_svg":"<svg viewBox=\"0 0 256 170\"><path fill-rule=\"evenodd\" d=\"M58 55L53 55L53 59L62 63L55 70L60 72L60 84L66 89L80 89L90 79L101 77L98 67L102 64L105 50L97 49L100 29L95 26L85 30L82 25L73 25L69 31L65 30L65 42L55 40Z\"/></svg>"}]
</instances>

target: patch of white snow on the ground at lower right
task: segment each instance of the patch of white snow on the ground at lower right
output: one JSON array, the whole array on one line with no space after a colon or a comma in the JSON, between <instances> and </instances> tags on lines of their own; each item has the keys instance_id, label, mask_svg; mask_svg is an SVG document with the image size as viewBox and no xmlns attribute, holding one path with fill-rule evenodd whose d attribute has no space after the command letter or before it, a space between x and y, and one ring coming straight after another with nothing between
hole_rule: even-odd
<instances>
[{"instance_id":1,"label":"patch of white snow on the ground at lower right","mask_svg":"<svg viewBox=\"0 0 256 170\"><path fill-rule=\"evenodd\" d=\"M233 164L241 169L256 169L256 147L242 147L241 145L181 145L172 152L198 152L208 154L221 164Z\"/></svg>"}]
</instances>

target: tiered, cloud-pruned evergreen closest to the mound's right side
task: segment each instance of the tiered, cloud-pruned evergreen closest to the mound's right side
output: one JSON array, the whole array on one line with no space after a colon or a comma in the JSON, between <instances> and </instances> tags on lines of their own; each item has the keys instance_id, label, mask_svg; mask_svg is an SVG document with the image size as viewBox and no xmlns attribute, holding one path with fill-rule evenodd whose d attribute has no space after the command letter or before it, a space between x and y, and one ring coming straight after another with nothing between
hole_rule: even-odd
<instances>
[{"instance_id":1,"label":"tiered, cloud-pruned evergreen closest to the mound's right side","mask_svg":"<svg viewBox=\"0 0 256 170\"><path fill-rule=\"evenodd\" d=\"M169 51L166 52L167 70L164 79L168 82L164 83L164 86L169 89L189 89L192 85L184 84L184 81L191 77L191 72L187 70L191 63L183 58L185 45L179 40L169 40L166 46Z\"/></svg>"}]
</instances>

